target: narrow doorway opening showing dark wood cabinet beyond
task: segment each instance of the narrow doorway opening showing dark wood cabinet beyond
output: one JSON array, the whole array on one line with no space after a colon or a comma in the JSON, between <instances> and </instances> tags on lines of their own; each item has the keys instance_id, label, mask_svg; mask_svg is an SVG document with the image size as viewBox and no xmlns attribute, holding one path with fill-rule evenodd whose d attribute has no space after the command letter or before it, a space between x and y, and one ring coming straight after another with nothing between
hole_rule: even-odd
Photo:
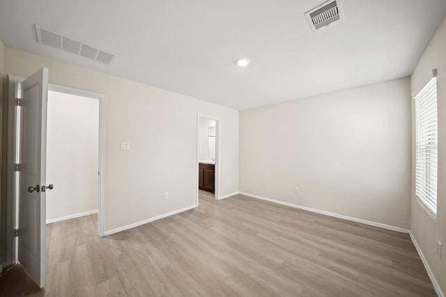
<instances>
[{"instance_id":1,"label":"narrow doorway opening showing dark wood cabinet beyond","mask_svg":"<svg viewBox=\"0 0 446 297\"><path fill-rule=\"evenodd\" d=\"M197 120L197 206L199 193L219 197L220 120L198 115Z\"/></svg>"}]
</instances>

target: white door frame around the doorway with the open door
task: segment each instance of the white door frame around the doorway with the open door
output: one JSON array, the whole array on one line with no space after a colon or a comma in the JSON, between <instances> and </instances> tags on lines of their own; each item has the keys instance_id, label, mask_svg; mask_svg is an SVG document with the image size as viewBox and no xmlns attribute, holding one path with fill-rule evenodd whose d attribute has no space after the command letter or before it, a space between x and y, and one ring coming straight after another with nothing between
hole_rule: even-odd
<instances>
[{"instance_id":1,"label":"white door frame around the doorway with the open door","mask_svg":"<svg viewBox=\"0 0 446 297\"><path fill-rule=\"evenodd\" d=\"M14 163L15 163L15 147L13 135L15 135L15 97L17 83L24 81L22 77L8 75L8 161L7 161L7 183L6 183L6 266L17 263L17 237L14 237L14 229L18 227L17 216L17 199L14 197L13 181ZM98 236L104 236L105 226L105 102L106 95L94 93L87 90L60 86L48 83L48 90L66 93L70 95L78 95L82 97L91 97L99 99L99 143L98 143Z\"/></svg>"}]
</instances>

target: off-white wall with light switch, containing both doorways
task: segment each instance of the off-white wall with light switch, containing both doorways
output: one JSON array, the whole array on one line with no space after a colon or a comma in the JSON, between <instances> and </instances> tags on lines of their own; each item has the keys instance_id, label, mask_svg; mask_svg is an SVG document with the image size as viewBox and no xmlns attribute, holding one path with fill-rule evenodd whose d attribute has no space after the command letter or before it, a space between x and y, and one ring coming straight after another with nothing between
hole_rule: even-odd
<instances>
[{"instance_id":1,"label":"off-white wall with light switch, containing both doorways","mask_svg":"<svg viewBox=\"0 0 446 297\"><path fill-rule=\"evenodd\" d=\"M6 47L7 73L28 77L40 67L50 83L107 95L106 231L196 204L199 113L221 120L219 196L238 191L238 111Z\"/></svg>"}]
</instances>

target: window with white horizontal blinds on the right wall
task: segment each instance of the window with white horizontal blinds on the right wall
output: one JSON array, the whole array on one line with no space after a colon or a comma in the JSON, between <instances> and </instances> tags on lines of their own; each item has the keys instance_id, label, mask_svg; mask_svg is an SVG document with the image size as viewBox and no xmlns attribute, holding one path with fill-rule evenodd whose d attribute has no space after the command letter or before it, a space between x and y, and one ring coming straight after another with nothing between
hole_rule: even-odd
<instances>
[{"instance_id":1,"label":"window with white horizontal blinds on the right wall","mask_svg":"<svg viewBox=\"0 0 446 297\"><path fill-rule=\"evenodd\" d=\"M415 95L415 197L436 217L438 172L437 79Z\"/></svg>"}]
</instances>

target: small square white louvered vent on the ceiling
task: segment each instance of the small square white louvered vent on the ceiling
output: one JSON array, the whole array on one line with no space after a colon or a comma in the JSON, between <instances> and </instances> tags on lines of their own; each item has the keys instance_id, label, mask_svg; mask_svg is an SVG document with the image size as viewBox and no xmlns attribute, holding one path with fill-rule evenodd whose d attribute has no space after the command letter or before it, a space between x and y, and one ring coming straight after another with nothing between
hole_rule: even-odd
<instances>
[{"instance_id":1,"label":"small square white louvered vent on the ceiling","mask_svg":"<svg viewBox=\"0 0 446 297\"><path fill-rule=\"evenodd\" d=\"M326 1L307 11L305 18L313 32L339 19L344 19L341 0Z\"/></svg>"}]
</instances>

